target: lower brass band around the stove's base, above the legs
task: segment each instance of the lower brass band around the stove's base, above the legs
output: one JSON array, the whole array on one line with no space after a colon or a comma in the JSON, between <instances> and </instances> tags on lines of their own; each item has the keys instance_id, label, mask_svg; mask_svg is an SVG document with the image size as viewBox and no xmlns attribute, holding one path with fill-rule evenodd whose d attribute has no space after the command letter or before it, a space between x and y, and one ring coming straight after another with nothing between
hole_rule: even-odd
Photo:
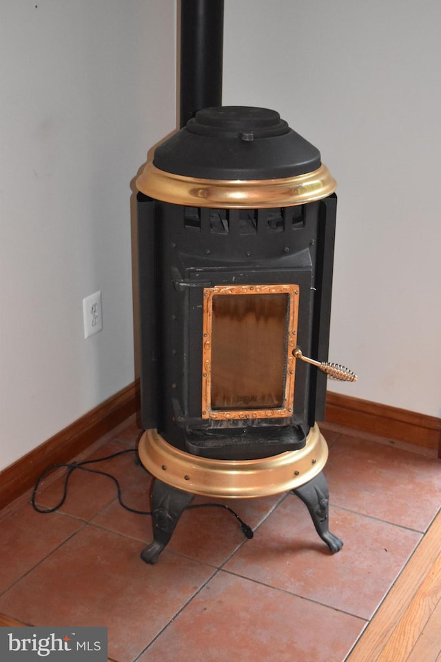
<instances>
[{"instance_id":1,"label":"lower brass band around the stove's base, above the legs","mask_svg":"<svg viewBox=\"0 0 441 662\"><path fill-rule=\"evenodd\" d=\"M213 460L178 450L156 430L146 430L139 441L139 457L148 472L178 490L243 499L304 485L325 466L328 448L314 425L300 450L257 460Z\"/></svg>"}]
</instances>

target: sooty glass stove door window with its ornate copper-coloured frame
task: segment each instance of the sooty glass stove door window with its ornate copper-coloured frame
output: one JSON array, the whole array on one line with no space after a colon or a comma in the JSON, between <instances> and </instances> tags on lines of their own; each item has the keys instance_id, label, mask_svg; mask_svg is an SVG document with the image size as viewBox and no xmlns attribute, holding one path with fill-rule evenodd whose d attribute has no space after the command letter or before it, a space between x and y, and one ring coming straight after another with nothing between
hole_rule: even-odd
<instances>
[{"instance_id":1,"label":"sooty glass stove door window with its ornate copper-coloured frame","mask_svg":"<svg viewBox=\"0 0 441 662\"><path fill-rule=\"evenodd\" d=\"M204 303L203 417L289 416L298 286L205 288Z\"/></svg>"}]
</instances>

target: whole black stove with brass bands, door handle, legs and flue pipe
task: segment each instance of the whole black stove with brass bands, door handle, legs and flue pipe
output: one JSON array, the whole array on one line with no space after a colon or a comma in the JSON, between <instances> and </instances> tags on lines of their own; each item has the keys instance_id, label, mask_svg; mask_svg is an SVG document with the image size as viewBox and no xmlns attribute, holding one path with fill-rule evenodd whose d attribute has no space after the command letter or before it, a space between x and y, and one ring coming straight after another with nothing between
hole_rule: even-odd
<instances>
[{"instance_id":1,"label":"whole black stove with brass bands, door handle, legs and flue pipe","mask_svg":"<svg viewBox=\"0 0 441 662\"><path fill-rule=\"evenodd\" d=\"M274 110L188 114L137 180L139 455L155 477L154 541L141 556L158 559L194 494L289 490L337 552L316 424L326 374L304 356L355 379L327 363L336 182Z\"/></svg>"}]
</instances>

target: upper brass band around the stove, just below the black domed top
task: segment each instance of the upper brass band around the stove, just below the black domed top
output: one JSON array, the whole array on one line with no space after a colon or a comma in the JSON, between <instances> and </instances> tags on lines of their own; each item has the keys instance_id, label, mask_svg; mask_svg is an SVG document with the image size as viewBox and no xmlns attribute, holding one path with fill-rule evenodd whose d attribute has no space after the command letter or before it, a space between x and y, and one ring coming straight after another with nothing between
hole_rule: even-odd
<instances>
[{"instance_id":1,"label":"upper brass band around the stove, just below the black domed top","mask_svg":"<svg viewBox=\"0 0 441 662\"><path fill-rule=\"evenodd\" d=\"M326 165L283 179L201 179L159 170L148 162L136 179L141 193L187 207L254 209L303 205L328 197L337 187Z\"/></svg>"}]
</instances>

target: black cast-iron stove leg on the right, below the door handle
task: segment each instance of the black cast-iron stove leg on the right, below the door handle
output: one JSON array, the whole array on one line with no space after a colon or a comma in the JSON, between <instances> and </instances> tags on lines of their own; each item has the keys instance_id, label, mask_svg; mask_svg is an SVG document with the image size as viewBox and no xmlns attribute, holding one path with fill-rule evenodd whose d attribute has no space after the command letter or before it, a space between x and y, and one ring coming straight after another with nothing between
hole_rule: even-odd
<instances>
[{"instance_id":1,"label":"black cast-iron stove leg on the right, below the door handle","mask_svg":"<svg viewBox=\"0 0 441 662\"><path fill-rule=\"evenodd\" d=\"M328 545L331 552L340 552L343 541L329 531L329 490L328 482L323 472L316 475L311 481L292 490L307 506L316 532Z\"/></svg>"}]
</instances>

